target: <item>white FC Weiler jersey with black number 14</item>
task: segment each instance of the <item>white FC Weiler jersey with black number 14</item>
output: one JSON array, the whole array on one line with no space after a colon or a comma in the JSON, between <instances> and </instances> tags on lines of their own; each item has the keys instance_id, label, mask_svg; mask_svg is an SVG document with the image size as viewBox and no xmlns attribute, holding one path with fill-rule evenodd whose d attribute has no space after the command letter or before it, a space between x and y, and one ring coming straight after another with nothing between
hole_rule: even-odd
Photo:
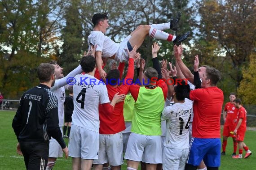
<instances>
[{"instance_id":1,"label":"white FC Weiler jersey with black number 14","mask_svg":"<svg viewBox=\"0 0 256 170\"><path fill-rule=\"evenodd\" d=\"M173 149L187 149L189 144L189 128L191 114L193 114L193 103L185 98L184 103L174 103L165 107L162 119L166 119L165 147Z\"/></svg>"}]
</instances>

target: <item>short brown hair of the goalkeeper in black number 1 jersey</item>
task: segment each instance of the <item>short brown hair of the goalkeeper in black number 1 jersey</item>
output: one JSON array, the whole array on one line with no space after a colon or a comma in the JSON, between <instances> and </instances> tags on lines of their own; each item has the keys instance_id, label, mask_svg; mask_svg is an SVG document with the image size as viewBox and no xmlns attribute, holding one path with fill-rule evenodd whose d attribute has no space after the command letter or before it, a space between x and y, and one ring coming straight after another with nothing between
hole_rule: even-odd
<instances>
[{"instance_id":1,"label":"short brown hair of the goalkeeper in black number 1 jersey","mask_svg":"<svg viewBox=\"0 0 256 170\"><path fill-rule=\"evenodd\" d=\"M37 76L40 83L49 82L54 74L54 66L49 63L42 63L37 68Z\"/></svg>"}]
</instances>

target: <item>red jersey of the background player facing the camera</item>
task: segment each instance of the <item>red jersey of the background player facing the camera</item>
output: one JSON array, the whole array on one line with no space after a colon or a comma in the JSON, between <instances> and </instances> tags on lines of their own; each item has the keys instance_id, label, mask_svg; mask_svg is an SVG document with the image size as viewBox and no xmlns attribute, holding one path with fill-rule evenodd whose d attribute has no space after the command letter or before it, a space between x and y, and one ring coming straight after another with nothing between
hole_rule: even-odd
<instances>
[{"instance_id":1,"label":"red jersey of the background player facing the camera","mask_svg":"<svg viewBox=\"0 0 256 170\"><path fill-rule=\"evenodd\" d=\"M232 104L231 102L227 102L225 105L224 111L226 112L225 125L228 125L228 126L236 125L238 109L234 106L234 104Z\"/></svg>"}]
</instances>

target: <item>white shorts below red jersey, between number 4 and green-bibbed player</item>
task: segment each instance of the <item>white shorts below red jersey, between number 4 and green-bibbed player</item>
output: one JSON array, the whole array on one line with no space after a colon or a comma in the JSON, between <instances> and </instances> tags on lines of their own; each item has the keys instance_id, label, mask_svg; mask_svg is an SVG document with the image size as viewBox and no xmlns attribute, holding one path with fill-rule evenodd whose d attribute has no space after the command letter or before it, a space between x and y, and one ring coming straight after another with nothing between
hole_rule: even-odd
<instances>
[{"instance_id":1,"label":"white shorts below red jersey, between number 4 and green-bibbed player","mask_svg":"<svg viewBox=\"0 0 256 170\"><path fill-rule=\"evenodd\" d=\"M122 132L112 135L100 134L99 157L93 160L93 164L102 165L107 162L111 166L119 166L124 163Z\"/></svg>"}]
</instances>

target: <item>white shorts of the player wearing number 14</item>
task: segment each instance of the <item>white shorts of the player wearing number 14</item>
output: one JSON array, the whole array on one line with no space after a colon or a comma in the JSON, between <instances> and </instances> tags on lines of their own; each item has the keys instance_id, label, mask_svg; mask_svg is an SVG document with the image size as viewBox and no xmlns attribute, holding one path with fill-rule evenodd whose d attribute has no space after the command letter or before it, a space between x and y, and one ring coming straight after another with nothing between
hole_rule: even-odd
<instances>
[{"instance_id":1,"label":"white shorts of the player wearing number 14","mask_svg":"<svg viewBox=\"0 0 256 170\"><path fill-rule=\"evenodd\" d=\"M164 147L163 170L184 170L189 150Z\"/></svg>"}]
</instances>

